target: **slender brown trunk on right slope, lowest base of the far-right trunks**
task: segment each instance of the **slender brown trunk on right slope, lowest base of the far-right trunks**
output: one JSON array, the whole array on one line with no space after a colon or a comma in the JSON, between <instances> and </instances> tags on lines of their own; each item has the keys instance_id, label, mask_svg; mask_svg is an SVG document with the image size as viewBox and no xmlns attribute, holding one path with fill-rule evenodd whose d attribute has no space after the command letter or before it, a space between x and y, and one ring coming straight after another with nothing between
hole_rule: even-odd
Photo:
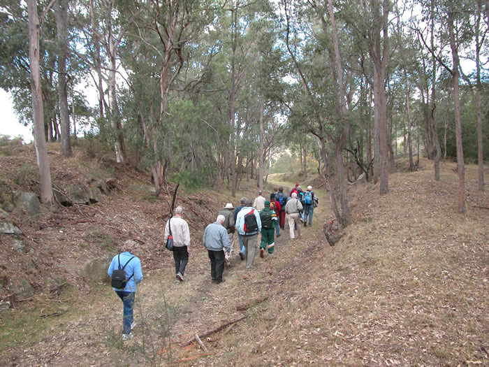
<instances>
[{"instance_id":1,"label":"slender brown trunk on right slope, lowest base of the far-right trunks","mask_svg":"<svg viewBox=\"0 0 489 367\"><path fill-rule=\"evenodd\" d=\"M455 137L457 142L457 164L458 164L458 211L465 213L465 163L464 150L462 146L462 121L460 117L460 85L458 72L459 59L455 43L455 32L453 30L453 11L448 11L448 34L450 36L450 47L453 60L453 107L455 110Z\"/></svg>"}]
</instances>

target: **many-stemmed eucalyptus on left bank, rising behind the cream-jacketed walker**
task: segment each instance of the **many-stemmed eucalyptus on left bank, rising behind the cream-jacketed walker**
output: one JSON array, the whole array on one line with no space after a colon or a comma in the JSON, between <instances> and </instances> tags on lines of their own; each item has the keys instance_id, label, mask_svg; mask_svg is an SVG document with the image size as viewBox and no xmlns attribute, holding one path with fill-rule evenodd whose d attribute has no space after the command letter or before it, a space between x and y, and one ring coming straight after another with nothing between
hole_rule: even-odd
<instances>
[{"instance_id":1,"label":"many-stemmed eucalyptus on left bank, rising behind the cream-jacketed walker","mask_svg":"<svg viewBox=\"0 0 489 367\"><path fill-rule=\"evenodd\" d=\"M170 113L175 111L172 103L178 105L184 98L180 94L200 84L197 81L202 75L198 75L196 66L196 80L187 80L186 75L179 77L183 70L190 70L187 65L201 65L193 59L191 50L219 9L212 1L154 1L144 11L143 6L142 2L131 7L133 22L125 32L124 66L131 71L127 78L131 89L128 99L134 98L132 117L138 121L137 131L145 145L157 195L166 181L166 169L175 148L173 137L184 128L177 124L181 121L178 114ZM181 106L192 110L191 104Z\"/></svg>"}]
</instances>

